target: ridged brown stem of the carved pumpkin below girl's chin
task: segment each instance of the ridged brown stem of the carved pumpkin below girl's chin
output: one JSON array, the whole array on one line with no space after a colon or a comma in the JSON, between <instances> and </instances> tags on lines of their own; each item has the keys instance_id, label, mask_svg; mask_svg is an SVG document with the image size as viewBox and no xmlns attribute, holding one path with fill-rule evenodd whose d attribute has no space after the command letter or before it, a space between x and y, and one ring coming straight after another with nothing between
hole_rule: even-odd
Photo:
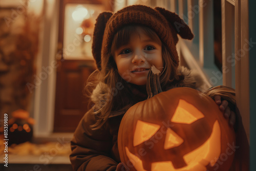
<instances>
[{"instance_id":1,"label":"ridged brown stem of the carved pumpkin below girl's chin","mask_svg":"<svg viewBox=\"0 0 256 171\"><path fill-rule=\"evenodd\" d=\"M160 73L155 66L152 66L150 72L148 72L146 83L147 99L163 92L159 81Z\"/></svg>"}]
</instances>

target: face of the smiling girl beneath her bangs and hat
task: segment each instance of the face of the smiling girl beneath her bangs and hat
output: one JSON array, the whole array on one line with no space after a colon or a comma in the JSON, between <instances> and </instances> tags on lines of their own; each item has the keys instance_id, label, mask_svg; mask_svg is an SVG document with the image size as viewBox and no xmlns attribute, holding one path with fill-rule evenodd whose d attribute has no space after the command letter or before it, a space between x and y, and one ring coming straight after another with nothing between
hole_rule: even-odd
<instances>
[{"instance_id":1,"label":"face of the smiling girl beneath her bangs and hat","mask_svg":"<svg viewBox=\"0 0 256 171\"><path fill-rule=\"evenodd\" d=\"M152 65L162 72L162 45L141 30L133 34L128 44L114 51L118 73L127 82L144 86Z\"/></svg>"}]
</instances>

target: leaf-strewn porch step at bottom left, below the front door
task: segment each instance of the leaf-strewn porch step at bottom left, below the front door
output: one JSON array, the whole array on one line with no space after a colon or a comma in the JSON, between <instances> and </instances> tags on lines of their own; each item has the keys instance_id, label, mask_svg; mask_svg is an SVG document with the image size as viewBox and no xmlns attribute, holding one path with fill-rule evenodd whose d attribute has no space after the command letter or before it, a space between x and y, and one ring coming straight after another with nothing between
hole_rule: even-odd
<instances>
[{"instance_id":1,"label":"leaf-strewn porch step at bottom left, below the front door","mask_svg":"<svg viewBox=\"0 0 256 171\"><path fill-rule=\"evenodd\" d=\"M0 170L72 170L69 160L71 137L72 134L53 134L33 138L32 142L10 145L8 167L2 164L6 153L1 138Z\"/></svg>"}]
</instances>

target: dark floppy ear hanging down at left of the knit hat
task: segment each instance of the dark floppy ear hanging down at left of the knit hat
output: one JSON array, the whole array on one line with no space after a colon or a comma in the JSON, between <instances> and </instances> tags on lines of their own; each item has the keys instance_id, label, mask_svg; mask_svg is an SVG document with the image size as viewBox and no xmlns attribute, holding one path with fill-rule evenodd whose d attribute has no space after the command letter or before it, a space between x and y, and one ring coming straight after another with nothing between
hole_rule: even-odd
<instances>
[{"instance_id":1,"label":"dark floppy ear hanging down at left of the knit hat","mask_svg":"<svg viewBox=\"0 0 256 171\"><path fill-rule=\"evenodd\" d=\"M93 32L93 45L92 45L92 53L93 57L96 61L97 68L101 70L101 47L103 41L104 30L106 27L106 23L113 15L112 12L102 12L96 19L96 24Z\"/></svg>"}]
</instances>

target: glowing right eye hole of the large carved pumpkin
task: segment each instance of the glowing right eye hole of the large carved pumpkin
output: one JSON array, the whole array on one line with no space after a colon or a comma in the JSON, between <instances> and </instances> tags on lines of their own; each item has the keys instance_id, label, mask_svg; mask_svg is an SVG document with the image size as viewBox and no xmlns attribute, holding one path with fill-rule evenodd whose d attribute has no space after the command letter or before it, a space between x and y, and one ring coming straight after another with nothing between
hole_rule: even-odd
<instances>
[{"instance_id":1,"label":"glowing right eye hole of the large carved pumpkin","mask_svg":"<svg viewBox=\"0 0 256 171\"><path fill-rule=\"evenodd\" d=\"M180 99L174 116L170 121L190 124L203 117L204 115L202 112L200 112L194 105Z\"/></svg>"}]
</instances>

